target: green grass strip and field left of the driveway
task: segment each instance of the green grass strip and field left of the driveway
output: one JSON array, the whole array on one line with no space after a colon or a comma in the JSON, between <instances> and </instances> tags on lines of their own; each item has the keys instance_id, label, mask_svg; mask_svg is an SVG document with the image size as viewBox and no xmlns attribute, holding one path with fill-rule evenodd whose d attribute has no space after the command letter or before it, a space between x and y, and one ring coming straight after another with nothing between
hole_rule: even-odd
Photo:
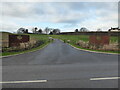
<instances>
[{"instance_id":1,"label":"green grass strip and field left of the driveway","mask_svg":"<svg viewBox=\"0 0 120 90\"><path fill-rule=\"evenodd\" d=\"M50 42L48 41L48 35L39 35L39 34L27 34L30 35L31 39L36 39L36 40L43 40L44 44L36 47L36 48L32 48L30 50L25 50L25 51L18 51L18 52L3 52L2 56L8 56L8 55L15 55L15 54L21 54L21 53L27 53L27 52L31 52L31 51L36 51L39 50L41 48L43 48L44 46L46 46L47 44L49 44Z\"/></svg>"}]
</instances>

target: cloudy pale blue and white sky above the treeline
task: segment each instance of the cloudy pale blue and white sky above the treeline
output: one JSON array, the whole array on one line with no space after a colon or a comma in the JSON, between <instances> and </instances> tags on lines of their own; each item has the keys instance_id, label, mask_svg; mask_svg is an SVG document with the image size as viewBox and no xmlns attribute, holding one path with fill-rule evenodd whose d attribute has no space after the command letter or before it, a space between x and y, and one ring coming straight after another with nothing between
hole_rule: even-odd
<instances>
[{"instance_id":1,"label":"cloudy pale blue and white sky above the treeline","mask_svg":"<svg viewBox=\"0 0 120 90\"><path fill-rule=\"evenodd\" d=\"M0 31L16 32L21 27L29 31L33 27L107 31L118 27L117 2L3 2L0 8Z\"/></svg>"}]
</instances>

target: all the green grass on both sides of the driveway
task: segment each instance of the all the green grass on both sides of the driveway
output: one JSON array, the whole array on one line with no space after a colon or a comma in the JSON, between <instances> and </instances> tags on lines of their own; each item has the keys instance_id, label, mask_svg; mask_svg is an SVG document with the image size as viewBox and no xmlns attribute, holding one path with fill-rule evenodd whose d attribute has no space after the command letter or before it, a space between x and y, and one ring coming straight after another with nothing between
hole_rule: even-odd
<instances>
[{"instance_id":1,"label":"all the green grass on both sides of the driveway","mask_svg":"<svg viewBox=\"0 0 120 90\"><path fill-rule=\"evenodd\" d=\"M1 41L4 41L4 42L8 41L7 34L8 33L3 33ZM89 41L89 35L39 35L39 34L25 34L25 35L30 35L30 40L35 40L35 41L39 40L39 41L43 41L44 43L42 45L32 48L30 50L17 51L17 52L3 52L2 56L20 54L20 53L26 53L26 52L38 50L50 43L48 37L61 39L61 40L65 41L66 43L67 43L67 40L70 40L69 44L71 44L77 48L80 48L80 49L86 49L86 48L76 45L76 42L78 42L79 40L82 40L84 42ZM118 43L118 37L117 36L110 37L110 43L113 43L113 44ZM4 44L4 45L7 46L6 44ZM92 49L87 49L87 50L92 50ZM104 51L104 50L92 50L92 51L118 53L118 51Z\"/></svg>"}]
</instances>

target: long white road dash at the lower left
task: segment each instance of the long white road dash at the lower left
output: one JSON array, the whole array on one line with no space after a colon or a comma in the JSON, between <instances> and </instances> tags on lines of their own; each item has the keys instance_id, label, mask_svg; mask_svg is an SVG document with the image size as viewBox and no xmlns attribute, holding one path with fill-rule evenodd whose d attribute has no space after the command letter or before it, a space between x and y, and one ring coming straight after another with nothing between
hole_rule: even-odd
<instances>
[{"instance_id":1,"label":"long white road dash at the lower left","mask_svg":"<svg viewBox=\"0 0 120 90\"><path fill-rule=\"evenodd\" d=\"M32 81L5 81L5 82L0 82L2 84L8 84L8 83L42 83L42 82L47 82L47 80L32 80Z\"/></svg>"}]
</instances>

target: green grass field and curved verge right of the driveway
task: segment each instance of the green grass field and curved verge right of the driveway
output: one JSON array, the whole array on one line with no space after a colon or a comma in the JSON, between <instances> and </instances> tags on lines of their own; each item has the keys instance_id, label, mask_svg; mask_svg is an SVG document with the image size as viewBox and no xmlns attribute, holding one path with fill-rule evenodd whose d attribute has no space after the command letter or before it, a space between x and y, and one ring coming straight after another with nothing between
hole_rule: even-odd
<instances>
[{"instance_id":1,"label":"green grass field and curved verge right of the driveway","mask_svg":"<svg viewBox=\"0 0 120 90\"><path fill-rule=\"evenodd\" d=\"M53 38L61 39L63 41L70 40L70 43L72 46L80 48L80 49L85 49L82 48L78 45L76 45L76 42L79 40L82 40L84 42L89 41L89 35L51 35ZM118 43L118 37L117 36L111 36L110 37L110 43ZM91 50L91 49L85 49L85 50ZM103 51L103 50L92 50L92 51L98 51L98 52L109 52L109 53L120 53L118 51Z\"/></svg>"}]
</instances>

